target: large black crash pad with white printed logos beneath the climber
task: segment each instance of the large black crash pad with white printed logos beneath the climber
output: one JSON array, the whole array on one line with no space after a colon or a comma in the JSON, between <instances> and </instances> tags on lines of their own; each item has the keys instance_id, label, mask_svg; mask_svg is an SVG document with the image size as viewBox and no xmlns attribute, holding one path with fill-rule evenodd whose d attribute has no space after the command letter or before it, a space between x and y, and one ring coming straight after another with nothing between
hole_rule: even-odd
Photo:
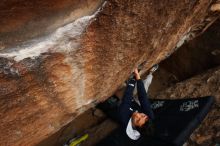
<instances>
[{"instance_id":1,"label":"large black crash pad with white printed logos beneath the climber","mask_svg":"<svg viewBox=\"0 0 220 146\"><path fill-rule=\"evenodd\" d=\"M214 103L214 97L150 101L155 114L153 136L141 137L134 141L119 127L102 139L97 146L181 146L205 118Z\"/></svg>"}]
</instances>

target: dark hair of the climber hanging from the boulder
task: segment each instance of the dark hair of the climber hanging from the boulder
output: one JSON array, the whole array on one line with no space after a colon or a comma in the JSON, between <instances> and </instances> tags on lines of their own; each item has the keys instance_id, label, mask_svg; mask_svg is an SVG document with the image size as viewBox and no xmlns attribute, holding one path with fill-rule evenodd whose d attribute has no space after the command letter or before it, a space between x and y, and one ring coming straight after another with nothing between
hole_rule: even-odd
<instances>
[{"instance_id":1,"label":"dark hair of the climber hanging from the boulder","mask_svg":"<svg viewBox=\"0 0 220 146\"><path fill-rule=\"evenodd\" d=\"M140 132L142 136L153 136L155 133L155 128L152 120L147 121L141 127L136 127L136 129L138 132Z\"/></svg>"}]
</instances>

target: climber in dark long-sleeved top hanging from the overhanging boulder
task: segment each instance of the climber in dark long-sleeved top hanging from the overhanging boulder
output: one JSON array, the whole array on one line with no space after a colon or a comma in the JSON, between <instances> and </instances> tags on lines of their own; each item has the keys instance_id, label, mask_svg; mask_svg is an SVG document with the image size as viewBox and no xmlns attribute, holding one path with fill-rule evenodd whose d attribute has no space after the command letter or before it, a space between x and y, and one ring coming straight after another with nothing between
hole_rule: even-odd
<instances>
[{"instance_id":1,"label":"climber in dark long-sleeved top hanging from the overhanging boulder","mask_svg":"<svg viewBox=\"0 0 220 146\"><path fill-rule=\"evenodd\" d=\"M157 68L158 65L154 65L144 80L141 79L136 68L133 73L134 77L127 82L121 103L115 106L113 104L115 96L113 96L99 106L110 118L121 124L122 130L131 141L137 141L141 135L152 134L154 131L152 122L154 113L148 100L147 91L153 78L152 74ZM133 96L134 92L137 92L138 98ZM118 98L116 97L116 99Z\"/></svg>"}]
</instances>

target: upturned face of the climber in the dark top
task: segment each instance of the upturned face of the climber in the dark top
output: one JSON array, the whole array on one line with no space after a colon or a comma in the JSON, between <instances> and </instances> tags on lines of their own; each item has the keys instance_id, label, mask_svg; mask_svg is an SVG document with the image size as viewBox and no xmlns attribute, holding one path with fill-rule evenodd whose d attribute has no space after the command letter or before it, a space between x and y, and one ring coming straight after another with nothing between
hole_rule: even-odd
<instances>
[{"instance_id":1,"label":"upturned face of the climber in the dark top","mask_svg":"<svg viewBox=\"0 0 220 146\"><path fill-rule=\"evenodd\" d=\"M149 120L148 116L144 113L134 112L132 114L132 125L134 127L143 127L144 124Z\"/></svg>"}]
</instances>

